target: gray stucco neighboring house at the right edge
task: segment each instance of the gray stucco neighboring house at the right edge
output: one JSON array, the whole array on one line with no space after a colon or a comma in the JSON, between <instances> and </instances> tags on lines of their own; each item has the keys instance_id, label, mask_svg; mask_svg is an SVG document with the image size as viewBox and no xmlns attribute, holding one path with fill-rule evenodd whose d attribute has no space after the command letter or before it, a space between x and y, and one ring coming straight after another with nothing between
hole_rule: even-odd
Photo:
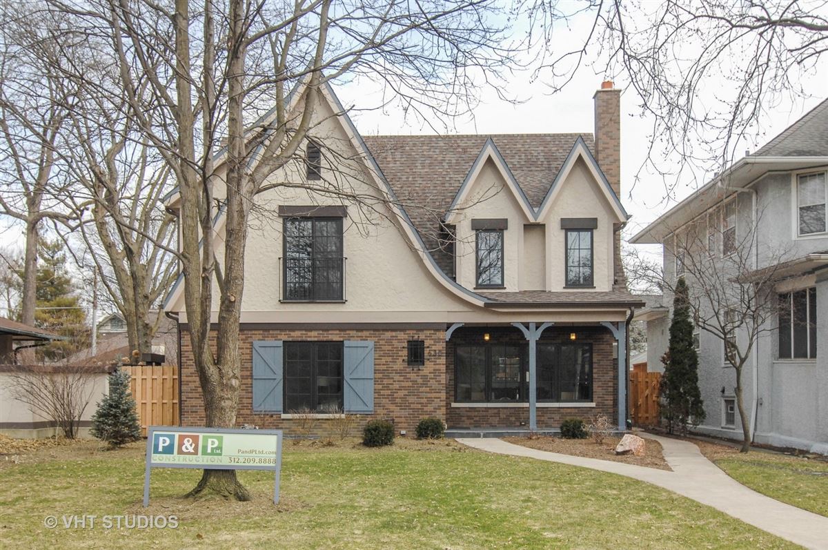
<instances>
[{"instance_id":1,"label":"gray stucco neighboring house at the right edge","mask_svg":"<svg viewBox=\"0 0 828 550\"><path fill-rule=\"evenodd\" d=\"M744 403L750 407L754 441L823 453L828 453L828 315L822 315L828 304L826 203L828 100L632 239L663 244L668 279L682 266L674 235L691 223L707 228L708 246L719 255L729 253L727 247L744 235L756 239L755 269L768 268L771 258L785 258L781 265L773 262L784 280L770 299L787 304L782 311L791 315L777 317L760 337L745 369ZM638 311L638 318L647 321L650 362L667 349L670 306L672 299L664 297L662 304L648 303ZM707 413L699 431L740 438L734 369L724 366L722 340L697 331L696 342Z\"/></svg>"}]
</instances>

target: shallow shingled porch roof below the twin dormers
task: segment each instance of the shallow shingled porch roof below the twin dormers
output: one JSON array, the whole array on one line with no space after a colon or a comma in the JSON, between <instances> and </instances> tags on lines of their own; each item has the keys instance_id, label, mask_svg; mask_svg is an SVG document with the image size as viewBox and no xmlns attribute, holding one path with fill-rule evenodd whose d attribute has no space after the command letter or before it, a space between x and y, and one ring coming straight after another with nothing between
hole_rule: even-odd
<instances>
[{"instance_id":1,"label":"shallow shingled porch roof below the twin dormers","mask_svg":"<svg viewBox=\"0 0 828 550\"><path fill-rule=\"evenodd\" d=\"M644 301L626 291L592 292L551 292L523 290L518 292L478 292L489 300L486 307L643 307Z\"/></svg>"}]
</instances>

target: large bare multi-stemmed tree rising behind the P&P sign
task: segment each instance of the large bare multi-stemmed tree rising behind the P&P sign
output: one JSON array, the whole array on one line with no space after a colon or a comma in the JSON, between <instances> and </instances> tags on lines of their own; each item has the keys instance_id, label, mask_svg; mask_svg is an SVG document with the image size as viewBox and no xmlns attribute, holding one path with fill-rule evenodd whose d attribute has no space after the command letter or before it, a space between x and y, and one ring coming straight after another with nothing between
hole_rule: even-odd
<instances>
[{"instance_id":1,"label":"large bare multi-stemmed tree rising behind the P&P sign","mask_svg":"<svg viewBox=\"0 0 828 550\"><path fill-rule=\"evenodd\" d=\"M498 71L513 62L510 42L491 17L499 8L486 0L205 0L197 8L186 0L51 0L44 9L70 21L61 39L83 36L102 56L99 63L118 75L118 85L107 89L71 67L61 70L84 82L84 94L111 103L125 98L134 128L178 184L176 258L211 427L233 427L236 418L245 243L250 225L265 215L255 197L301 187L358 205L366 217L393 218L388 205L397 203L373 183L376 175L357 158L361 153L326 144L325 166L335 167L333 176L318 182L284 176L305 166L315 120L345 114L336 106L332 114L317 110L325 86L366 79L384 86L383 105L396 101L421 119L445 119L467 112L476 84L496 84ZM343 186L349 176L372 191ZM94 200L113 215L105 197ZM216 253L219 218L224 245ZM233 470L205 470L190 495L204 490L249 498Z\"/></svg>"}]
</instances>

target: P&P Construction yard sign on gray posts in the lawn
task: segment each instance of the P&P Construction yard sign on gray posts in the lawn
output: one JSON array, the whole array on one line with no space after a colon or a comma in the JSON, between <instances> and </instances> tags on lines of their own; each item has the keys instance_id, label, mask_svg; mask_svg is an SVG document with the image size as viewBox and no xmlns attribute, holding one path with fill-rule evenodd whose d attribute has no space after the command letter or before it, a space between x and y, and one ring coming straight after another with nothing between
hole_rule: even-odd
<instances>
[{"instance_id":1,"label":"P&P Construction yard sign on gray posts in the lawn","mask_svg":"<svg viewBox=\"0 0 828 550\"><path fill-rule=\"evenodd\" d=\"M150 503L150 468L273 470L273 504L279 502L282 430L151 426L147 434L144 507Z\"/></svg>"}]
</instances>

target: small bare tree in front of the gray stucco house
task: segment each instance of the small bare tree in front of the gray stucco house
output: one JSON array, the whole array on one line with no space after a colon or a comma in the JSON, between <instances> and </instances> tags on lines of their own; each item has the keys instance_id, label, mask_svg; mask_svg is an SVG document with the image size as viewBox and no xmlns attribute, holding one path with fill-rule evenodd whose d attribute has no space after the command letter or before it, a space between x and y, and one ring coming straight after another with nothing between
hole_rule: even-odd
<instances>
[{"instance_id":1,"label":"small bare tree in front of the gray stucco house","mask_svg":"<svg viewBox=\"0 0 828 550\"><path fill-rule=\"evenodd\" d=\"M667 261L675 270L662 270L656 263L640 258L633 262L636 275L674 295L679 277L689 287L689 306L696 326L721 341L726 364L734 369L734 394L742 424L742 452L751 442L751 410L744 403L745 377L749 359L757 353L763 335L778 328L780 307L775 287L792 259L785 250L757 248L757 228L762 212L750 220L748 229L721 224L720 206L690 224L676 227L667 240ZM665 276L664 273L670 273ZM755 388L754 388L755 391Z\"/></svg>"}]
</instances>

